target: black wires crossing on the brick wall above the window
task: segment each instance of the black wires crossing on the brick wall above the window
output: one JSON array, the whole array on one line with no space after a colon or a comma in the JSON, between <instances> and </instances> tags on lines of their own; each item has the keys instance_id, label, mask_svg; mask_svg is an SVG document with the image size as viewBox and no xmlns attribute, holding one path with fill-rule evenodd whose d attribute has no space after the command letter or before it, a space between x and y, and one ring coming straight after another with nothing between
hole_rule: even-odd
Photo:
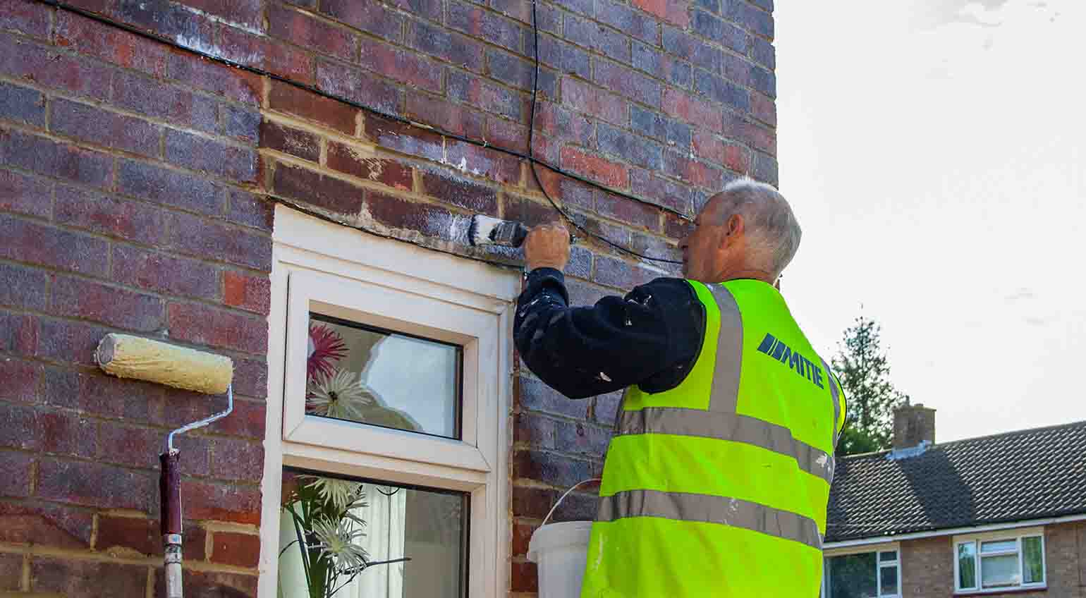
<instances>
[{"instance_id":1,"label":"black wires crossing on the brick wall above the window","mask_svg":"<svg viewBox=\"0 0 1086 598\"><path fill-rule=\"evenodd\" d=\"M678 216L678 217L680 217L680 218L682 218L684 220L687 220L687 221L690 221L690 219L691 219L690 216L687 216L686 214L683 214L683 213L681 213L681 212L679 212L677 209L673 209L673 208L670 208L670 207L667 207L667 206L664 206L664 205L659 205L659 204L651 202L648 200L641 199L641 198L639 198L636 195L631 195L631 194L624 193L622 191L610 189L610 188L608 188L608 187L606 187L604 185L601 185L601 183L598 183L596 181L593 181L591 179L582 177L582 176L580 176L580 175L578 175L576 173L570 173L568 170L564 170L563 168L559 168L559 167L557 167L557 166L555 166L555 165L553 165L553 164L551 164L551 163L548 163L546 161L539 160L539 158L535 157L534 152L533 152L533 148L532 148L532 141L533 141L533 138L534 138L533 132L534 132L534 124L535 124L535 104L536 104L536 100L538 100L538 97L539 97L539 72L540 72L539 24L536 23L535 0L532 0L532 30L533 30L533 34L534 34L534 52L533 53L535 54L535 69L534 69L534 77L533 77L533 80L532 80L532 107L531 107L531 114L529 115L529 123L528 123L528 153L527 154L523 153L523 152L518 152L516 150L510 150L508 148L503 148L501 145L494 145L494 144L489 143L489 142L487 142L484 140L473 139L473 138L470 138L470 137L467 137L467 136L463 136L463 135L459 135L459 133L455 133L453 131L449 131L449 130L445 130L445 129L442 129L442 128L439 128L439 127L433 127L433 126L427 125L425 123L419 123L419 122L416 122L416 120L412 120L411 118L405 118L405 117L396 115L396 114L390 114L390 113L387 113L384 111L378 110L378 109L376 109L374 106L366 105L366 104L363 104L361 102L356 102L354 100L351 100L351 99L348 99L348 98L343 98L341 96L336 96L333 93L329 93L327 91L321 90L320 88L318 88L316 86L303 84L301 81L295 81L293 79L283 77L281 75L277 75L277 74L272 73L269 71L265 71L263 68L257 68L255 66L250 66L250 65L247 65L247 64L235 62L232 60L229 60L229 59L226 59L226 58L223 58L223 56L217 56L215 54L210 54L207 52L204 52L202 50L197 50L194 48L189 48L187 46L182 46L180 43L177 43L176 41L174 41L174 40L172 40L169 38L166 38L166 37L163 37L163 36L160 36L157 34L153 34L153 33L150 33L150 31L147 31L147 30L143 30L143 29L140 29L139 27L135 27L135 26L128 25L126 23L121 23L118 21L114 21L114 20L112 20L110 17L106 17L106 16L100 15L98 13L94 13L94 12L81 9L79 7L74 7L72 4L68 4L67 2L62 1L62 0L36 0L36 1L41 2L43 4L47 4L47 5L50 5L50 7L54 8L54 9L58 9L58 10L64 10L66 12L78 14L80 16L84 16L86 18L90 18L90 20L96 21L98 23L101 23L103 25L108 25L108 26L113 27L113 28L122 29L124 31L128 31L128 33L130 33L132 35L137 35L137 36L140 36L140 37L146 38L146 39L151 39L151 40L157 41L160 43L164 43L166 46L169 46L171 48L176 48L178 50L182 50L185 52L189 52L189 53L199 55L199 56L201 56L201 58L203 58L205 60L217 62L219 64L231 66L233 68L245 71L248 73L253 73L254 75L258 75L258 76L262 76L262 77L268 77L268 78L274 79L276 81L280 81L280 82L290 85L292 87L296 87L299 89L304 89L304 90L310 91L312 93L316 93L316 94L318 94L318 96L320 96L323 98L328 98L330 100L334 100L337 102L341 102L343 104L346 104L346 105L350 105L350 106L353 106L353 107L356 107L356 109L369 112L369 113L371 113L374 115L380 116L382 118L387 118L387 119L395 122L395 123L401 123L401 124L409 125L409 126L413 126L413 127L418 127L418 128L431 130L431 131L433 131L433 132L435 132L438 135L441 135L443 137L447 137L450 139L455 139L457 141L463 141L465 143L470 143L472 145L478 145L480 148L489 148L489 149L494 150L496 152L505 153L505 154L518 157L520 160L527 160L528 163L531 165L532 178L535 180L535 185L539 186L540 190L543 193L543 196L546 198L546 200L551 204L551 206L555 211L557 211L558 214L560 214L565 219L567 219L571 225L573 225L573 227L576 227L578 230L584 232L584 234L586 234L588 237L591 237L593 239L602 241L602 242L606 243L607 245L610 245L611 247L615 247L615 249L617 249L619 251L622 251L624 253L628 253L628 254L633 255L635 257L639 257L641 259L647 259L647 260L651 260L651 262L660 262L660 263L665 263L665 264L681 264L682 263L682 262L678 262L678 260L674 260L674 259L664 259L664 258L659 258L659 257L649 257L647 255L637 253L637 252L635 252L635 251L633 251L633 250L631 250L629 247L622 246L619 243L615 243L614 241L611 241L609 239L606 239L606 238L604 238L601 234L592 232L591 230L588 230L582 225L580 225L579 222L577 222L569 213L567 213L566 211L564 211L551 198L551 195L547 193L546 189L543 187L542 182L540 181L539 174L538 174L538 170L535 168L536 165L540 165L540 166L542 166L542 167L544 167L544 168L546 168L546 169L548 169L548 170L557 174L557 175L561 175L564 177L570 178L570 179L576 180L578 182L584 183L584 185L586 185L589 187L592 187L594 189L598 189L601 191L604 191L604 192L607 192L607 193L610 193L610 194L614 194L614 195L617 195L619 198L623 198L623 199L627 199L627 200L630 200L630 201L634 201L634 202L637 202L637 203L641 203L641 204L644 204L644 205L653 206L653 207L655 207L657 209L664 211L665 213L673 214L673 215L675 215L675 216Z\"/></svg>"}]
</instances>

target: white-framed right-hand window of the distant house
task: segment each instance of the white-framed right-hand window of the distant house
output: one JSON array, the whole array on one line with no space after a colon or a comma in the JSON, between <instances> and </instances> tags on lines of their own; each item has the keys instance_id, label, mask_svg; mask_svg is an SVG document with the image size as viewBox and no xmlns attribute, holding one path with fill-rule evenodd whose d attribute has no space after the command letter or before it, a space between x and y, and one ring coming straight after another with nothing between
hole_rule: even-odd
<instances>
[{"instance_id":1,"label":"white-framed right-hand window of the distant house","mask_svg":"<svg viewBox=\"0 0 1086 598\"><path fill-rule=\"evenodd\" d=\"M1043 530L955 538L955 589L958 591L1044 586Z\"/></svg>"}]
</instances>

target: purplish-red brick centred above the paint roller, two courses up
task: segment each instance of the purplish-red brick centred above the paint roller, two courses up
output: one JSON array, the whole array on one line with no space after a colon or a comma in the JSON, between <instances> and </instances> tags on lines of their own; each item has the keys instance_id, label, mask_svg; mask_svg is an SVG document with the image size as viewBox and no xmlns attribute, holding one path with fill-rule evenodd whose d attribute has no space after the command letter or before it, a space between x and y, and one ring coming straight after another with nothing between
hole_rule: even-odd
<instances>
[{"instance_id":1,"label":"purplish-red brick centred above the paint roller, two courses up","mask_svg":"<svg viewBox=\"0 0 1086 598\"><path fill-rule=\"evenodd\" d=\"M110 277L123 284L181 296L218 298L214 266L128 245L113 247Z\"/></svg>"}]
</instances>

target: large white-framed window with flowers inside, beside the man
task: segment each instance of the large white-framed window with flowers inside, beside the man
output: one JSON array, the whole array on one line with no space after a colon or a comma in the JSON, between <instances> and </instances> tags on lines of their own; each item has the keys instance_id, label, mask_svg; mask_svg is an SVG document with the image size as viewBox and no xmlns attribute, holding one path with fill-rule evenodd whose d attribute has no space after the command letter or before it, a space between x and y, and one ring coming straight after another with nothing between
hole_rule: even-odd
<instances>
[{"instance_id":1,"label":"large white-framed window with flowers inside, beside the man","mask_svg":"<svg viewBox=\"0 0 1086 598\"><path fill-rule=\"evenodd\" d=\"M519 273L275 224L258 596L504 596Z\"/></svg>"}]
</instances>

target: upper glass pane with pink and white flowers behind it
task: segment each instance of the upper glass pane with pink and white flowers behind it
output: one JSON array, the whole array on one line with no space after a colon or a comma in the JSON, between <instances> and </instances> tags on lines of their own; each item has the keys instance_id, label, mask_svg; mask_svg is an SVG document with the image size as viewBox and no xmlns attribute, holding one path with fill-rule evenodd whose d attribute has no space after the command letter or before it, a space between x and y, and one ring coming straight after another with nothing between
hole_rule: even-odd
<instances>
[{"instance_id":1,"label":"upper glass pane with pink and white flowers behind it","mask_svg":"<svg viewBox=\"0 0 1086 598\"><path fill-rule=\"evenodd\" d=\"M460 437L462 348L310 314L306 412Z\"/></svg>"}]
</instances>

